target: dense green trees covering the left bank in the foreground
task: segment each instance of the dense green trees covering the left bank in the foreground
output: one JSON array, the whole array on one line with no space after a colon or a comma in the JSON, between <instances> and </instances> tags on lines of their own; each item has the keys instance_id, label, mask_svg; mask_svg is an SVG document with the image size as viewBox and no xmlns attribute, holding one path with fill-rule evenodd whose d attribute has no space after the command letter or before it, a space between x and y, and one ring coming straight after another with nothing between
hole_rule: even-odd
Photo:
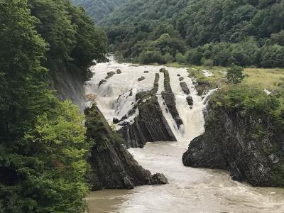
<instances>
[{"instance_id":1,"label":"dense green trees covering the left bank in the foreground","mask_svg":"<svg viewBox=\"0 0 284 213\"><path fill-rule=\"evenodd\" d=\"M68 0L0 0L0 212L84 212L92 145L48 76L89 76L107 37Z\"/></svg>"}]
</instances>

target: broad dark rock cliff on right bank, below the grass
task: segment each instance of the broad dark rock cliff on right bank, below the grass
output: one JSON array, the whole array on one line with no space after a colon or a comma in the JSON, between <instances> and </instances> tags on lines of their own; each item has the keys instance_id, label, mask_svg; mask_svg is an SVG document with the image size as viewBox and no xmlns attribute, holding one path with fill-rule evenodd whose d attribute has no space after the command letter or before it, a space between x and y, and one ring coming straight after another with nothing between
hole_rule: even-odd
<instances>
[{"instance_id":1,"label":"broad dark rock cliff on right bank, below the grass","mask_svg":"<svg viewBox=\"0 0 284 213\"><path fill-rule=\"evenodd\" d=\"M233 180L284 187L284 133L262 114L244 117L209 102L206 131L190 142L184 165L228 170ZM268 134L257 129L270 129ZM273 127L275 129L275 127Z\"/></svg>"}]
</instances>

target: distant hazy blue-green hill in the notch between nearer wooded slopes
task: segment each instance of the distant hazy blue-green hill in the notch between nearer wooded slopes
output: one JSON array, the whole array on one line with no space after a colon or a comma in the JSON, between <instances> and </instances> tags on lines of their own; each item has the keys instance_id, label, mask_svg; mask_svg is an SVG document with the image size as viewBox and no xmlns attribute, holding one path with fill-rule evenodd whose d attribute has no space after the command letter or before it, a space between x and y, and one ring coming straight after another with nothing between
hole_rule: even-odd
<instances>
[{"instance_id":1,"label":"distant hazy blue-green hill in the notch between nearer wooded slopes","mask_svg":"<svg viewBox=\"0 0 284 213\"><path fill-rule=\"evenodd\" d=\"M71 0L77 6L82 6L94 21L99 22L107 14L123 4L126 0Z\"/></svg>"}]
</instances>

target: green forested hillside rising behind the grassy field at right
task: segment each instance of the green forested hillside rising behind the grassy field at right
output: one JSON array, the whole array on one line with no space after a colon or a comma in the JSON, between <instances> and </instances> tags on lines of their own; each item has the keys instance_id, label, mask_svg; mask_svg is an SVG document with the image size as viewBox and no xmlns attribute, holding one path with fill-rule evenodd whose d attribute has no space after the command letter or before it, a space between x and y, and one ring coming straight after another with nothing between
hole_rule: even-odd
<instances>
[{"instance_id":1,"label":"green forested hillside rising behind the grassy field at right","mask_svg":"<svg viewBox=\"0 0 284 213\"><path fill-rule=\"evenodd\" d=\"M119 59L284 67L284 1L128 1L109 14Z\"/></svg>"}]
</instances>

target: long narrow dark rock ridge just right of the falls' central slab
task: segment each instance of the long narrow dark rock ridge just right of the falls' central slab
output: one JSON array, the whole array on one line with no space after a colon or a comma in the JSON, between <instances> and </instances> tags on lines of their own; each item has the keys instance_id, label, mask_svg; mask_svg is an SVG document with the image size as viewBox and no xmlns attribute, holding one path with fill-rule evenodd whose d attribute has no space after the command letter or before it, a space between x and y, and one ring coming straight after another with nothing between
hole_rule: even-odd
<instances>
[{"instance_id":1,"label":"long narrow dark rock ridge just right of the falls' central slab","mask_svg":"<svg viewBox=\"0 0 284 213\"><path fill-rule=\"evenodd\" d=\"M180 125L183 124L183 121L180 119L180 115L178 114L178 109L175 104L175 94L173 94L172 87L170 87L170 75L167 70L164 70L163 73L165 75L165 92L163 92L163 99L165 100L165 104L167 105L170 114L172 114L175 123L177 124L178 128L180 128Z\"/></svg>"}]
</instances>

